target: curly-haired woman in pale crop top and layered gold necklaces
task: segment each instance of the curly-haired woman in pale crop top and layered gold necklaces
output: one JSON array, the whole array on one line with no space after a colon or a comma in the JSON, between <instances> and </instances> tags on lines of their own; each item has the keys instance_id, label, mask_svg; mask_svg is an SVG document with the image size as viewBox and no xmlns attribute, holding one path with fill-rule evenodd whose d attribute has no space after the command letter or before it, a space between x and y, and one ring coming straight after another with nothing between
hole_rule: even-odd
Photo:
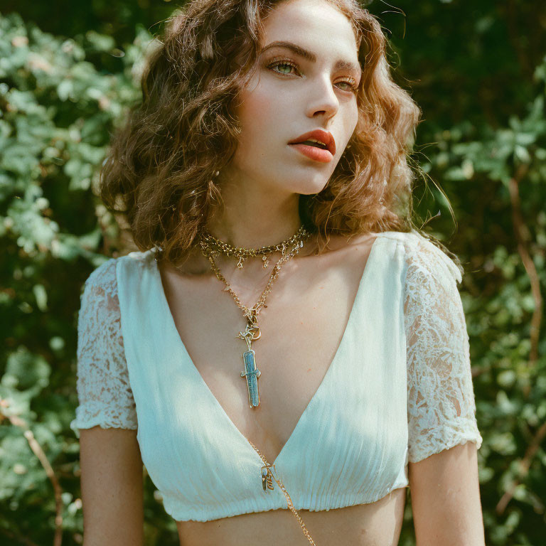
<instances>
[{"instance_id":1,"label":"curly-haired woman in pale crop top and layered gold necklaces","mask_svg":"<svg viewBox=\"0 0 546 546\"><path fill-rule=\"evenodd\" d=\"M85 546L142 544L143 463L183 545L396 545L408 486L419 546L484 544L461 271L387 68L352 0L173 16L103 171L139 251L82 296Z\"/></svg>"}]
</instances>

